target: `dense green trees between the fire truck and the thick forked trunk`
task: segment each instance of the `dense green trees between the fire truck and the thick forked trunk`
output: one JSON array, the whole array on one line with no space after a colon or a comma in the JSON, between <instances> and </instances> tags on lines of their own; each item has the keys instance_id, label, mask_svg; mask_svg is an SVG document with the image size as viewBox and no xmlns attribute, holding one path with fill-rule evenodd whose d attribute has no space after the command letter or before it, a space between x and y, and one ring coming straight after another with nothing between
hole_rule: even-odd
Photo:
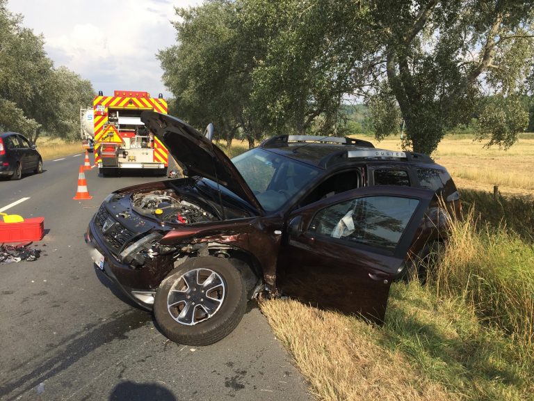
<instances>
[{"instance_id":1,"label":"dense green trees between the fire truck and the thick forked trunk","mask_svg":"<svg viewBox=\"0 0 534 401\"><path fill-rule=\"evenodd\" d=\"M214 0L177 15L177 45L158 55L163 80L180 116L218 120L227 139L242 132L252 146L264 134L303 133L318 116L326 134L361 81L352 63L366 34L348 28L360 15L349 3Z\"/></svg>"}]
</instances>

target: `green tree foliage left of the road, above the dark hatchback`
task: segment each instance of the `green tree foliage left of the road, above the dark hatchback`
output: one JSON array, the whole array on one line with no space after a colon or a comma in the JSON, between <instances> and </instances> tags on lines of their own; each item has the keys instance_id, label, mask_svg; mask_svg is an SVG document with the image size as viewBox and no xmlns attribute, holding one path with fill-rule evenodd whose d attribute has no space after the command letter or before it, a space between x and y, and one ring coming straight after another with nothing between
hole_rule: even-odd
<instances>
[{"instance_id":1,"label":"green tree foliage left of the road, above the dark hatchback","mask_svg":"<svg viewBox=\"0 0 534 401\"><path fill-rule=\"evenodd\" d=\"M36 141L41 132L74 139L79 109L92 102L89 81L65 67L54 68L44 38L22 25L0 0L0 129Z\"/></svg>"}]
</instances>

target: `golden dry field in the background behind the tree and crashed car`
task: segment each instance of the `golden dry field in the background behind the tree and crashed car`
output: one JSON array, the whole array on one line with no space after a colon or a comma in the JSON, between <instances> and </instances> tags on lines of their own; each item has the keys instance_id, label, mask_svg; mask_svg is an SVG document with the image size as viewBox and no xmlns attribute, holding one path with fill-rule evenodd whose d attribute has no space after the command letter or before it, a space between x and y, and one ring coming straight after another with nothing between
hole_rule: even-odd
<instances>
[{"instance_id":1,"label":"golden dry field in the background behind the tree and crashed car","mask_svg":"<svg viewBox=\"0 0 534 401\"><path fill-rule=\"evenodd\" d=\"M399 139L385 139L375 146L400 149ZM469 136L447 135L432 154L445 166L458 187L534 198L534 134L522 134L508 150L484 148Z\"/></svg>"}]
</instances>

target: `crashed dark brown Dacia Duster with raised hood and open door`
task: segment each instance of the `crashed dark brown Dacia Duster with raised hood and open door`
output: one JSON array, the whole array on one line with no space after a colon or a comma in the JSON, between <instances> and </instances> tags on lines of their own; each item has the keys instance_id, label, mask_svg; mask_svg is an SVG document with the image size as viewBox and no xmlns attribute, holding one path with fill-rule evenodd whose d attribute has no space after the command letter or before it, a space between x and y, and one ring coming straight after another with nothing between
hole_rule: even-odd
<instances>
[{"instance_id":1,"label":"crashed dark brown Dacia Duster with raised hood and open door","mask_svg":"<svg viewBox=\"0 0 534 401\"><path fill-rule=\"evenodd\" d=\"M451 177L426 155L285 135L231 161L177 118L141 118L186 178L113 192L86 241L97 269L178 343L227 336L259 294L380 322L410 255L446 236L437 196L458 212Z\"/></svg>"}]
</instances>

